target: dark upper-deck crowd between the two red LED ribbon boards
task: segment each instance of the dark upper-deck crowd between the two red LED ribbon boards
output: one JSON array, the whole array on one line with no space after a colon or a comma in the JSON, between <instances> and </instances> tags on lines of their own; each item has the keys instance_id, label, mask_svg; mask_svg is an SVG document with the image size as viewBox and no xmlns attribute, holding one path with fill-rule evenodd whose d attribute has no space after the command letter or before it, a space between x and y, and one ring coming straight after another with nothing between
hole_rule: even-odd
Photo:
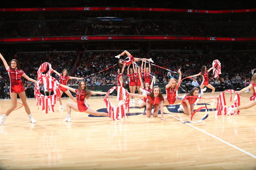
<instances>
[{"instance_id":1,"label":"dark upper-deck crowd between the two red LED ribbon boards","mask_svg":"<svg viewBox=\"0 0 256 170\"><path fill-rule=\"evenodd\" d=\"M0 24L0 37L42 37L81 35L168 35L211 37L254 37L256 23L237 25L196 21L148 21L85 24L82 20L20 21ZM254 24L253 24L254 23ZM87 30L87 32L86 32Z\"/></svg>"}]
</instances>

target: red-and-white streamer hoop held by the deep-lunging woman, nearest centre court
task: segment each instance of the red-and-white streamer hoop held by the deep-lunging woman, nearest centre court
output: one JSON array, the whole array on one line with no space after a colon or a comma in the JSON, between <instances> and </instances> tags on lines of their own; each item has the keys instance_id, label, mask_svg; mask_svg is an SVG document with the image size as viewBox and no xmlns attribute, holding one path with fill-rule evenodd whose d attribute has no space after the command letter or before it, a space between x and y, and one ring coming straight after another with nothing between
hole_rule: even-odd
<instances>
[{"instance_id":1,"label":"red-and-white streamer hoop held by the deep-lunging woman, nearest centre court","mask_svg":"<svg viewBox=\"0 0 256 170\"><path fill-rule=\"evenodd\" d=\"M109 100L109 94L112 93L115 89L117 89L118 91L117 100L120 100L121 96L124 97L124 104L122 104L121 106L115 106L111 104ZM124 87L120 87L120 86L111 87L111 89L107 92L107 95L104 101L107 107L108 115L111 119L118 120L122 118L125 119L126 117L128 117L128 112L130 108L129 106L130 98L128 95L128 91ZM127 113L127 115L125 113Z\"/></svg>"}]
</instances>

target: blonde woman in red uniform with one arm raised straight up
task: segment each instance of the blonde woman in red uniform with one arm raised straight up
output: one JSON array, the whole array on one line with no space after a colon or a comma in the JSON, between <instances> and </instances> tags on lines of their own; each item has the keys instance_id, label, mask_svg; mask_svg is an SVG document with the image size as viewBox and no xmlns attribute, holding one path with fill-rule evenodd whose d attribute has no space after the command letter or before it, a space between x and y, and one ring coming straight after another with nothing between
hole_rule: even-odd
<instances>
[{"instance_id":1,"label":"blonde woman in red uniform with one arm raised straight up","mask_svg":"<svg viewBox=\"0 0 256 170\"><path fill-rule=\"evenodd\" d=\"M166 98L164 98L165 105L177 104L181 102L181 100L176 97L176 91L177 91L177 88L179 88L177 86L181 82L181 77L182 77L180 69L178 70L178 73L179 73L178 82L175 78L171 78L169 80L169 83L165 87L166 89Z\"/></svg>"}]
</instances>

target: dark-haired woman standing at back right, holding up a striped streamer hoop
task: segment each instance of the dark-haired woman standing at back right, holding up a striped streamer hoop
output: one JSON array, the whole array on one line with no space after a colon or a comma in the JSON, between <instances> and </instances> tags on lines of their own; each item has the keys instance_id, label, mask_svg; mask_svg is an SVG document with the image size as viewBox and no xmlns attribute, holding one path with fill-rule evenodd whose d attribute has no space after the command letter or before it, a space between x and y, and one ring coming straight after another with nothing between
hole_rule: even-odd
<instances>
[{"instance_id":1,"label":"dark-haired woman standing at back right, holding up a striped streamer hoop","mask_svg":"<svg viewBox=\"0 0 256 170\"><path fill-rule=\"evenodd\" d=\"M201 95L203 95L203 92L206 90L206 88L203 89L205 86L212 89L212 97L214 95L215 88L211 84L209 84L209 71L212 70L212 69L213 69L213 67L211 67L209 70L207 70L206 66L202 66L202 69L201 69L200 73L198 73L197 75L190 76L190 77L196 77L196 76L199 76L199 75L203 76L203 82L201 83L201 86L200 86Z\"/></svg>"}]
</instances>

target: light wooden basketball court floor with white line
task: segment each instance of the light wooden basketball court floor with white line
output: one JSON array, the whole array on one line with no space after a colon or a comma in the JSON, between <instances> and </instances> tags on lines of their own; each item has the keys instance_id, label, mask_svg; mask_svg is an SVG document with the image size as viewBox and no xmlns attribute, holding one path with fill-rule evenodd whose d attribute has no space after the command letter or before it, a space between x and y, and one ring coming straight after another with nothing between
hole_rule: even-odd
<instances>
[{"instance_id":1,"label":"light wooden basketball court floor with white line","mask_svg":"<svg viewBox=\"0 0 256 170\"><path fill-rule=\"evenodd\" d=\"M243 105L252 94L242 95ZM226 96L228 101L230 94ZM117 104L116 97L111 100ZM72 122L63 122L65 107L59 111L56 104L54 113L45 114L38 110L35 99L27 101L37 123L29 123L24 107L17 104L19 109L0 126L0 169L256 169L256 107L242 110L239 115L216 117L216 102L200 100L195 108L206 103L213 111L195 124L182 124L189 118L177 113L179 105L164 108L165 121L160 120L160 115L145 117L144 108L131 108L132 116L125 120L72 111ZM62 101L72 102L68 98ZM106 108L103 97L92 97L88 104L95 110ZM10 100L0 100L0 113L10 105ZM194 120L204 114L196 113Z\"/></svg>"}]
</instances>

